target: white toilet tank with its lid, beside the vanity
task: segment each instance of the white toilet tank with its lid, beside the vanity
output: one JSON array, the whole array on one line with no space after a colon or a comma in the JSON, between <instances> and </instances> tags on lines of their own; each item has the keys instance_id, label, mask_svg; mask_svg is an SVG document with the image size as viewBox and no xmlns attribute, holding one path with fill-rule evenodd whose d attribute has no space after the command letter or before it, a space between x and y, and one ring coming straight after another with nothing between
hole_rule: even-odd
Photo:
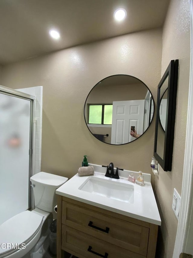
<instances>
[{"instance_id":1,"label":"white toilet tank with its lid, beside the vanity","mask_svg":"<svg viewBox=\"0 0 193 258\"><path fill-rule=\"evenodd\" d=\"M68 178L39 172L30 178L33 187L35 206L43 211L52 212L57 204L55 190Z\"/></svg>"}]
</instances>

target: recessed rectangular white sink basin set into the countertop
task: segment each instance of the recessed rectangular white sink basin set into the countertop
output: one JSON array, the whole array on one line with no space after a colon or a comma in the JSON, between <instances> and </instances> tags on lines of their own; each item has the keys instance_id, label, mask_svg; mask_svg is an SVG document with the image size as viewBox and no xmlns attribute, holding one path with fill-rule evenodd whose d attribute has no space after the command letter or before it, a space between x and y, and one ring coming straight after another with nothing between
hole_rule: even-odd
<instances>
[{"instance_id":1,"label":"recessed rectangular white sink basin set into the countertop","mask_svg":"<svg viewBox=\"0 0 193 258\"><path fill-rule=\"evenodd\" d=\"M134 185L124 184L119 181L109 181L105 178L92 176L78 189L111 199L134 203Z\"/></svg>"}]
</instances>

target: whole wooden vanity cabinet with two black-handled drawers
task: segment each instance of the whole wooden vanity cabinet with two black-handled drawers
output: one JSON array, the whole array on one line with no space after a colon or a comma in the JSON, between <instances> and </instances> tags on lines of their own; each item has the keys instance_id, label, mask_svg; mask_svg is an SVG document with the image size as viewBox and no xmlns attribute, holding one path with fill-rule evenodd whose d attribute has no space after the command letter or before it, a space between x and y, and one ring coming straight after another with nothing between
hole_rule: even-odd
<instances>
[{"instance_id":1,"label":"whole wooden vanity cabinet with two black-handled drawers","mask_svg":"<svg viewBox=\"0 0 193 258\"><path fill-rule=\"evenodd\" d=\"M125 204L127 205L127 204ZM158 226L58 196L57 258L154 258Z\"/></svg>"}]
</instances>

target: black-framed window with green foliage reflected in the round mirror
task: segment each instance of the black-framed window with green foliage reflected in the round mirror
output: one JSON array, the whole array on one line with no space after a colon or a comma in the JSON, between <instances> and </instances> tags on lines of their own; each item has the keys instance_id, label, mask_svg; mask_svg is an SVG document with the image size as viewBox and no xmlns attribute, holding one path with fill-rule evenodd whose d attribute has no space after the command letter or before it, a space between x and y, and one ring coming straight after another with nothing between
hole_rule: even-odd
<instances>
[{"instance_id":1,"label":"black-framed window with green foliage reflected in the round mirror","mask_svg":"<svg viewBox=\"0 0 193 258\"><path fill-rule=\"evenodd\" d=\"M88 105L88 123L112 125L112 105Z\"/></svg>"}]
</instances>

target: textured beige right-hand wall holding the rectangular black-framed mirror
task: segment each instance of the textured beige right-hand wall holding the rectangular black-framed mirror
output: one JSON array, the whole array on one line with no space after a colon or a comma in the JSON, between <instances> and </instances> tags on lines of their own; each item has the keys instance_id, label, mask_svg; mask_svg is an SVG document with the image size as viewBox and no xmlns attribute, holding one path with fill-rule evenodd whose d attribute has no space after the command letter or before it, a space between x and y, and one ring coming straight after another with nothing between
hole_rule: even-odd
<instances>
[{"instance_id":1,"label":"textured beige right-hand wall holding the rectangular black-framed mirror","mask_svg":"<svg viewBox=\"0 0 193 258\"><path fill-rule=\"evenodd\" d=\"M178 220L172 210L172 195L174 188L179 194L182 190L190 63L189 0L172 0L169 5L163 28L162 75L172 59L179 59L172 171L165 172L160 168L156 178L157 202L162 219L156 256L160 258L171 258L173 254Z\"/></svg>"}]
</instances>

